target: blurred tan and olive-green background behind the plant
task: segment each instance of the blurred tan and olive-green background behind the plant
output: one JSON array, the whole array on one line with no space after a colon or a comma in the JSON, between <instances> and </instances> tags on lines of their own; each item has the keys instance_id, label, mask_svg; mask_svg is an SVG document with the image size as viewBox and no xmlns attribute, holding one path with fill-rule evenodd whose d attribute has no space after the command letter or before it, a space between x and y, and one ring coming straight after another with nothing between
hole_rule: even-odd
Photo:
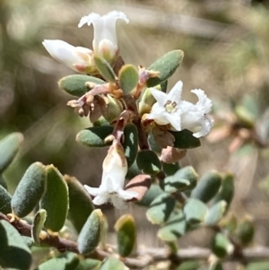
<instances>
[{"instance_id":1,"label":"blurred tan and olive-green background behind the plant","mask_svg":"<svg viewBox=\"0 0 269 270\"><path fill-rule=\"evenodd\" d=\"M184 98L193 101L189 91L203 89L213 100L213 113L226 111L227 118L231 105L246 94L256 101L258 112L268 108L268 6L268 1L250 0L0 1L0 136L13 131L25 136L22 151L6 174L10 187L33 161L53 163L64 174L98 185L107 152L75 142L89 120L66 107L73 98L58 89L57 81L74 72L48 55L43 39L91 48L92 27L78 29L81 17L123 11L130 23L117 23L117 37L125 62L149 66L169 50L182 49L184 62L169 88L182 80ZM269 173L268 151L249 144L248 152L231 154L231 140L213 144L204 138L202 147L189 151L181 163L201 174L210 169L234 172L237 191L232 209L238 216L254 217L256 242L267 245L269 185L260 184ZM139 217L144 219L137 214L138 222ZM155 241L153 237L152 245Z\"/></svg>"}]
</instances>

